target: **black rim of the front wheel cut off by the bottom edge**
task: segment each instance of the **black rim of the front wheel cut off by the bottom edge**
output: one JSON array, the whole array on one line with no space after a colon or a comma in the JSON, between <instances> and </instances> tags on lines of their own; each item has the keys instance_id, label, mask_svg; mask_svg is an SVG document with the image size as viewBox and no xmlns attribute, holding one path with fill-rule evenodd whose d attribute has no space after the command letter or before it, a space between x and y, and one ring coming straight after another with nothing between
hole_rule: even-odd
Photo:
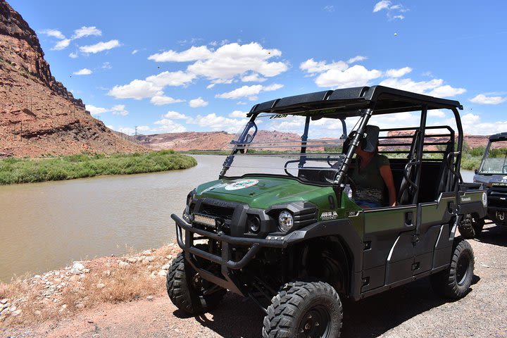
<instances>
[{"instance_id":1,"label":"black rim of the front wheel cut off by the bottom edge","mask_svg":"<svg viewBox=\"0 0 507 338\"><path fill-rule=\"evenodd\" d=\"M331 316L327 308L322 305L313 306L308 310L299 325L300 338L330 337Z\"/></svg>"}]
</instances>

